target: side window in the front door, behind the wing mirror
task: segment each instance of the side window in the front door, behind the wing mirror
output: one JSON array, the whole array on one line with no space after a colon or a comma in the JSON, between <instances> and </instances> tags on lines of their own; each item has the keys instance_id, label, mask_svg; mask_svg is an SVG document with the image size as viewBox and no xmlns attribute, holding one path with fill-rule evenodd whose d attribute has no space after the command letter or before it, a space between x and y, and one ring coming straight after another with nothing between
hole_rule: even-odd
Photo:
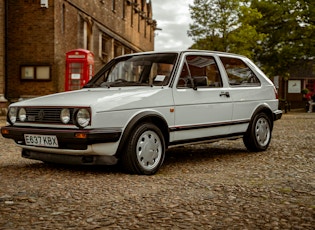
<instances>
[{"instance_id":1,"label":"side window in the front door, behind the wing mirror","mask_svg":"<svg viewBox=\"0 0 315 230\"><path fill-rule=\"evenodd\" d=\"M221 76L213 57L199 55L186 57L177 87L191 87L192 82L198 87L222 87Z\"/></svg>"}]
</instances>

